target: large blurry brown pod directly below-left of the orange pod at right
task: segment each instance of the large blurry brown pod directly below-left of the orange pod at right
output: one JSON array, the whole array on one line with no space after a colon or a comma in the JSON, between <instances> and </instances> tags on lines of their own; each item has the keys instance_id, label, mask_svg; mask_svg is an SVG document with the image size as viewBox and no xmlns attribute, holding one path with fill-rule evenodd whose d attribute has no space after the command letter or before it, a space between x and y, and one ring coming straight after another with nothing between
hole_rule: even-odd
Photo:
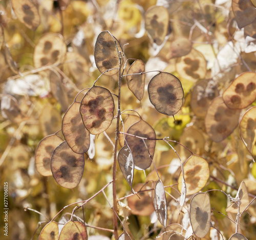
<instances>
[{"instance_id":1,"label":"large blurry brown pod directly below-left of the orange pod at right","mask_svg":"<svg viewBox=\"0 0 256 240\"><path fill-rule=\"evenodd\" d=\"M219 142L237 127L240 110L230 109L221 97L215 98L205 116L205 129L211 140Z\"/></svg>"}]
</instances>

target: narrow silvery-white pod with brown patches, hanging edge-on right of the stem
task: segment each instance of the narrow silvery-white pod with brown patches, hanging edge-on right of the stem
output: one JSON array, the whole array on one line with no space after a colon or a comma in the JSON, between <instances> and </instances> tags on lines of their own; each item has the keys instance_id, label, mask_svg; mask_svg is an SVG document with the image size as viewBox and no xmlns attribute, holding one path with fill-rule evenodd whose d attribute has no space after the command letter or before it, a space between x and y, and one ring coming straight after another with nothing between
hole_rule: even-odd
<instances>
[{"instance_id":1,"label":"narrow silvery-white pod with brown patches, hanging edge-on right of the stem","mask_svg":"<svg viewBox=\"0 0 256 240\"><path fill-rule=\"evenodd\" d=\"M162 224L162 226L166 227L167 202L164 186L160 179L156 182L154 206L157 213L157 219Z\"/></svg>"}]
</instances>

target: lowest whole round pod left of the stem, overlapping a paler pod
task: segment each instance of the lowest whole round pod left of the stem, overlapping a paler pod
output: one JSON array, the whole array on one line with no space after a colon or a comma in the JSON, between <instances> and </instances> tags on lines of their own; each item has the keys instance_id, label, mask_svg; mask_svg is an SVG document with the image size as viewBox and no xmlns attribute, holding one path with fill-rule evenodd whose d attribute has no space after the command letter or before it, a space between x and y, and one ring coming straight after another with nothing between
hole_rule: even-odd
<instances>
[{"instance_id":1,"label":"lowest whole round pod left of the stem, overlapping a paler pod","mask_svg":"<svg viewBox=\"0 0 256 240\"><path fill-rule=\"evenodd\" d=\"M83 169L83 154L73 152L66 141L55 148L51 158L51 171L60 186L76 187L81 181Z\"/></svg>"}]
</instances>

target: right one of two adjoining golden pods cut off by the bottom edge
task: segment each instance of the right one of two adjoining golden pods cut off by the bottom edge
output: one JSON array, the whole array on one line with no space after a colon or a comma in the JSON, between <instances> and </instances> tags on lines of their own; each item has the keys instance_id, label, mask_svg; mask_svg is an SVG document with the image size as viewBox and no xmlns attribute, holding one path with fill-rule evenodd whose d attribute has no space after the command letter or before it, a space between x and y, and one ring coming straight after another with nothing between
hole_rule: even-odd
<instances>
[{"instance_id":1,"label":"right one of two adjoining golden pods cut off by the bottom edge","mask_svg":"<svg viewBox=\"0 0 256 240\"><path fill-rule=\"evenodd\" d=\"M62 228L58 240L77 239L87 240L88 234L86 227L80 222L67 222Z\"/></svg>"}]
</instances>

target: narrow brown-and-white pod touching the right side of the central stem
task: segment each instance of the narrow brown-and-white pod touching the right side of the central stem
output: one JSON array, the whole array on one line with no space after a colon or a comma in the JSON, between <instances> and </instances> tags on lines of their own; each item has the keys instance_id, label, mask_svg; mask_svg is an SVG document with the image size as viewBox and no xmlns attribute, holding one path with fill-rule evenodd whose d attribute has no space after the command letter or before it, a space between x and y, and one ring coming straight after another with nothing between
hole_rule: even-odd
<instances>
[{"instance_id":1,"label":"narrow brown-and-white pod touching the right side of the central stem","mask_svg":"<svg viewBox=\"0 0 256 240\"><path fill-rule=\"evenodd\" d=\"M133 191L134 160L132 152L127 145L120 149L117 160L126 182Z\"/></svg>"}]
</instances>

